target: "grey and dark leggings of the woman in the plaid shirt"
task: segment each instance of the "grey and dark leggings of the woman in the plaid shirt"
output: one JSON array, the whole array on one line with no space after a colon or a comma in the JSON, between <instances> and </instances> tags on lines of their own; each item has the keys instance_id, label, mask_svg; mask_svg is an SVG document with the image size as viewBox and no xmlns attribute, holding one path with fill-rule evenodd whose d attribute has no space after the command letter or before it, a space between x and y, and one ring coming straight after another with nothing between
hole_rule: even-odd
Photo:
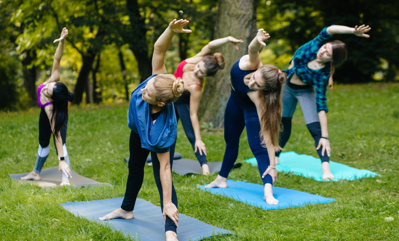
<instances>
[{"instance_id":1,"label":"grey and dark leggings of the woman in the plaid shirt","mask_svg":"<svg viewBox=\"0 0 399 241\"><path fill-rule=\"evenodd\" d=\"M300 86L292 83L286 83L282 90L282 119L281 123L283 126L280 132L279 144L281 147L287 143L291 134L291 120L294 115L296 104L299 102L300 108L302 109L303 117L305 119L306 126L312 135L315 145L317 147L320 138L322 137L322 130L320 126L319 116L316 112L316 96L314 86ZM320 159L323 161L329 161L326 153L322 156L322 148L317 150ZM276 152L276 156L279 156L280 152Z\"/></svg>"}]
</instances>

